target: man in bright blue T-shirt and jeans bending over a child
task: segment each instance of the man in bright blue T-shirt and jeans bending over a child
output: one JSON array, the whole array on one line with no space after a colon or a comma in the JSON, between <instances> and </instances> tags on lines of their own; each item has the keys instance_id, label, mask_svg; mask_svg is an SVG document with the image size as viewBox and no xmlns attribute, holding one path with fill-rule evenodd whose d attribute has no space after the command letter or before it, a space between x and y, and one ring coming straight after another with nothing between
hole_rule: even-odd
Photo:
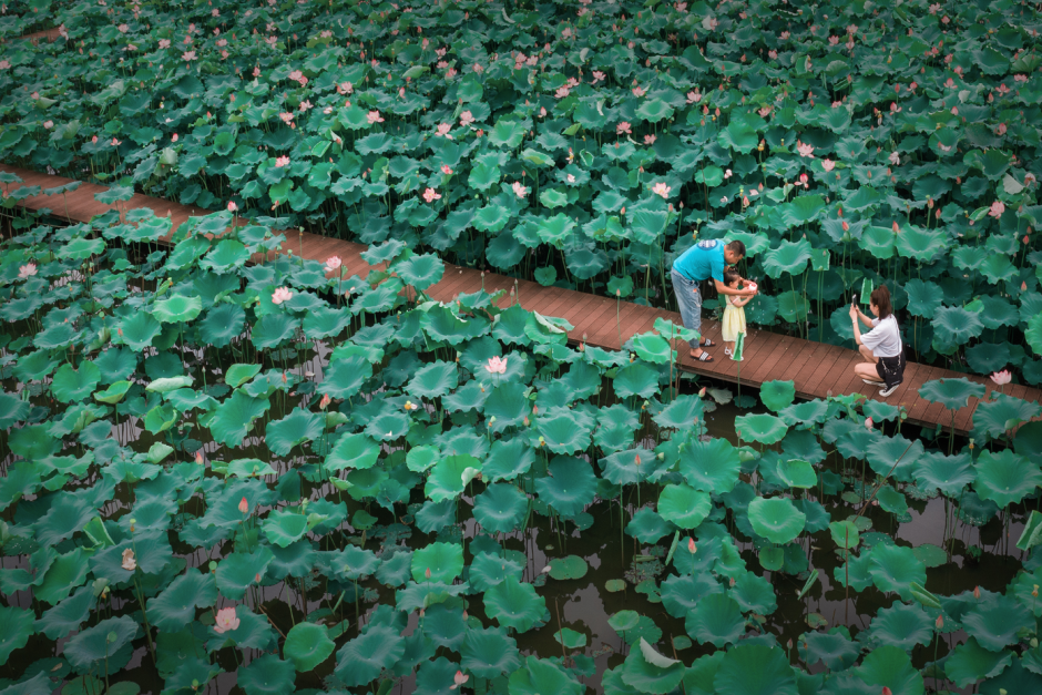
<instances>
[{"instance_id":1,"label":"man in bright blue T-shirt and jeans bending over a child","mask_svg":"<svg viewBox=\"0 0 1042 695\"><path fill-rule=\"evenodd\" d=\"M698 292L698 284L703 280L713 278L716 292L722 295L747 297L756 294L755 289L734 289L724 284L724 268L744 257L745 244L739 241L725 245L721 239L703 239L673 262L673 290L685 328L702 333L702 293ZM691 356L702 362L712 362L713 356L702 349L712 345L708 338L701 343L692 340Z\"/></svg>"}]
</instances>

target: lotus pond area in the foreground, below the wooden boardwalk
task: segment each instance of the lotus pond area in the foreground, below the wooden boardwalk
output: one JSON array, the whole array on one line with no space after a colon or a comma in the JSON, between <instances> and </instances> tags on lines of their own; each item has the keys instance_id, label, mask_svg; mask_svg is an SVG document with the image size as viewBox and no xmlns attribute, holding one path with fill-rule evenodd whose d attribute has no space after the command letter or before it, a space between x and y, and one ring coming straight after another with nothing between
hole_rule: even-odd
<instances>
[{"instance_id":1,"label":"lotus pond area in the foreground, below the wooden boardwalk","mask_svg":"<svg viewBox=\"0 0 1042 695\"><path fill-rule=\"evenodd\" d=\"M400 243L340 277L247 265L283 235L226 212L159 249L120 216L0 248L0 693L1042 684L1036 403L972 443L790 382L739 409L667 323L570 347L428 300Z\"/></svg>"}]
</instances>

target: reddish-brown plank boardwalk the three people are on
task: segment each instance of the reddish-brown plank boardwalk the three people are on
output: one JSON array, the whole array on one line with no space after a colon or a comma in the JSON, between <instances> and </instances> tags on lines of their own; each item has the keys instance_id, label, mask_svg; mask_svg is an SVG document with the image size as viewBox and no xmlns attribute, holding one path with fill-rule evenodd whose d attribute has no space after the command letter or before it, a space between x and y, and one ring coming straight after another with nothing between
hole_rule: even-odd
<instances>
[{"instance_id":1,"label":"reddish-brown plank boardwalk the three people are on","mask_svg":"<svg viewBox=\"0 0 1042 695\"><path fill-rule=\"evenodd\" d=\"M22 185L39 185L41 188L52 188L72 180L61 176L49 176L32 171L0 165L0 171L18 174L25 183ZM17 188L19 184L6 185L6 188ZM73 192L61 195L39 195L25 198L20 205L31 209L50 208L52 215L67 218L70 222L89 222L94 215L102 214L114 206L104 205L94 200L94 194L105 191L105 186L83 183ZM134 197L120 204L124 209L149 207L157 215L168 214L173 218L173 228L176 229L191 216L208 214L211 211L180 205L163 198L136 194ZM339 256L347 268L348 276L365 277L369 265L361 259L361 252L366 247L333 237L305 233L303 237L295 232L285 232L286 248L292 248L294 255L302 253L305 258L325 260L329 256ZM431 287L427 294L439 301L449 301L461 293L471 293L484 287L488 292L497 289L507 290L501 304L508 305L510 289L518 288L518 299L525 309L539 311L544 316L555 316L566 319L575 328L570 331L572 344L585 340L588 345L605 349L619 349L620 334L624 343L631 336L652 330L655 319L663 317L676 324L681 323L678 314L645 307L639 304L622 301L617 305L619 319L616 324L616 300L586 293L562 289L560 287L543 287L537 283L519 280L494 273L484 273L472 268L446 265L445 277ZM716 321L704 321L705 335L713 340L721 341L719 325ZM685 346L678 350L678 364L682 369L724 381L735 382L738 379L738 362L724 356L723 348L715 347L711 352L716 358L713 362L697 362L687 355ZM800 398L824 398L829 395L864 394L868 398L879 398L878 387L861 382L854 376L854 366L861 358L856 350L824 343L801 340L790 336L752 329L746 337L745 361L742 362L742 384L758 387L764 381L791 380L796 385L796 392ZM942 425L946 428L951 422L950 413L940 405L930 403L919 397L919 388L927 381L940 378L968 377L973 381L983 384L989 394L992 388L990 379L971 375L958 374L929 365L909 362L905 371L905 382L886 402L903 406L908 411L908 420L924 427ZM1010 385L1004 392L1017 398L1038 401L1042 399L1042 391L1036 388ZM985 395L985 398L988 396ZM971 399L970 406L962 408L956 415L956 429L967 432L972 428L973 410L977 400Z\"/></svg>"}]
</instances>

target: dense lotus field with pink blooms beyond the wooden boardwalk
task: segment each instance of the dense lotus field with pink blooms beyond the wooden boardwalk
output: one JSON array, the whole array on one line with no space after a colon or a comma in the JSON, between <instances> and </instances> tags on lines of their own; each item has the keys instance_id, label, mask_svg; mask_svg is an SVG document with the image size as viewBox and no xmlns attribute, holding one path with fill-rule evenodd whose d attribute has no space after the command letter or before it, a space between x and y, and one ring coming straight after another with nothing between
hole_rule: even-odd
<instances>
[{"instance_id":1,"label":"dense lotus field with pink blooms beyond the wooden boardwalk","mask_svg":"<svg viewBox=\"0 0 1042 695\"><path fill-rule=\"evenodd\" d=\"M674 307L740 238L759 326L1042 382L1042 14L1026 2L106 3L0 35L0 159L272 228Z\"/></svg>"}]
</instances>

